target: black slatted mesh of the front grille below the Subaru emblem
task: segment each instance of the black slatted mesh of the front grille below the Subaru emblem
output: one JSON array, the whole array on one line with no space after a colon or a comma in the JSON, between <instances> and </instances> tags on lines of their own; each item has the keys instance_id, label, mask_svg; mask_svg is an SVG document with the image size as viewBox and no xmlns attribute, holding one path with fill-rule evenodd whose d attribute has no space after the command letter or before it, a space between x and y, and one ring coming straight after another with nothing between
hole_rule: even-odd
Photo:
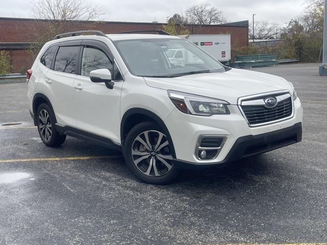
<instances>
[{"instance_id":1,"label":"black slatted mesh of the front grille below the Subaru emblem","mask_svg":"<svg viewBox=\"0 0 327 245\"><path fill-rule=\"evenodd\" d=\"M241 107L250 125L264 124L289 117L293 110L291 96L279 101L274 108L267 108L263 105L242 105Z\"/></svg>"}]
</instances>

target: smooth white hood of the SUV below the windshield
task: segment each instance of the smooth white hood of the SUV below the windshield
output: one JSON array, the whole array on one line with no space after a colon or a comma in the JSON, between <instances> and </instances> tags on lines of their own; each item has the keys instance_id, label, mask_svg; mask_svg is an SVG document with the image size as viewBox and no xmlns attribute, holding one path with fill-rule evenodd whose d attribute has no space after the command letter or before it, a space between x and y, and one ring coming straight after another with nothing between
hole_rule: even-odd
<instances>
[{"instance_id":1,"label":"smooth white hood of the SUV below the windshield","mask_svg":"<svg viewBox=\"0 0 327 245\"><path fill-rule=\"evenodd\" d=\"M291 92L292 89L284 78L235 68L226 72L144 79L151 87L213 97L233 105L239 97L283 89Z\"/></svg>"}]
</instances>

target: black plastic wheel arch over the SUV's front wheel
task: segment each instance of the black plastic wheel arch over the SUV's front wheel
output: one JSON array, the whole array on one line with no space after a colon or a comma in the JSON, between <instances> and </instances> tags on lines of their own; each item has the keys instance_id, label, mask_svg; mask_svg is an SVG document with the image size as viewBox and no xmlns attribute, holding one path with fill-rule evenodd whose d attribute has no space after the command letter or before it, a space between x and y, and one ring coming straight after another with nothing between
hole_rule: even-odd
<instances>
[{"instance_id":1,"label":"black plastic wheel arch over the SUV's front wheel","mask_svg":"<svg viewBox=\"0 0 327 245\"><path fill-rule=\"evenodd\" d=\"M152 111L143 109L143 108L131 108L127 110L122 118L121 121L121 142L122 146L124 146L125 138L128 132L137 124L143 121L153 121L159 125L159 127L164 131L165 135L167 136L170 144L172 145L172 156L176 158L175 148L173 140L170 136L169 130L165 125L165 122L155 113Z\"/></svg>"}]
</instances>

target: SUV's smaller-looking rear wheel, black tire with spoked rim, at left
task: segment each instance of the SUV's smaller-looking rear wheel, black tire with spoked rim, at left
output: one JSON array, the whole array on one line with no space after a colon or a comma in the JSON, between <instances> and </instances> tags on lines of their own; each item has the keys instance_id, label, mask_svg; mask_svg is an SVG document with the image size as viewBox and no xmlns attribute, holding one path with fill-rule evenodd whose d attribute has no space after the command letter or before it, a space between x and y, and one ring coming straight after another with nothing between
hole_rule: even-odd
<instances>
[{"instance_id":1,"label":"SUV's smaller-looking rear wheel, black tire with spoked rim, at left","mask_svg":"<svg viewBox=\"0 0 327 245\"><path fill-rule=\"evenodd\" d=\"M46 118L45 122L44 118ZM60 135L56 130L56 117L48 104L43 103L38 107L36 121L40 138L46 146L56 147L65 141L66 135Z\"/></svg>"}]
</instances>

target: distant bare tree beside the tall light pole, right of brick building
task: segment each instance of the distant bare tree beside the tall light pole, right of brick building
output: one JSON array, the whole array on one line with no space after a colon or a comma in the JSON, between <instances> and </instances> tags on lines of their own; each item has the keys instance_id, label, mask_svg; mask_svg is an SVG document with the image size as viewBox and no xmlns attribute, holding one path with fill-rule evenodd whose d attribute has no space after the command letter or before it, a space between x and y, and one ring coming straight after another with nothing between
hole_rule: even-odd
<instances>
[{"instance_id":1,"label":"distant bare tree beside the tall light pole, right of brick building","mask_svg":"<svg viewBox=\"0 0 327 245\"><path fill-rule=\"evenodd\" d=\"M249 25L250 39L253 39L253 28L252 23ZM279 24L270 23L268 21L256 21L254 23L254 39L271 39L276 34L280 34L281 29Z\"/></svg>"}]
</instances>

